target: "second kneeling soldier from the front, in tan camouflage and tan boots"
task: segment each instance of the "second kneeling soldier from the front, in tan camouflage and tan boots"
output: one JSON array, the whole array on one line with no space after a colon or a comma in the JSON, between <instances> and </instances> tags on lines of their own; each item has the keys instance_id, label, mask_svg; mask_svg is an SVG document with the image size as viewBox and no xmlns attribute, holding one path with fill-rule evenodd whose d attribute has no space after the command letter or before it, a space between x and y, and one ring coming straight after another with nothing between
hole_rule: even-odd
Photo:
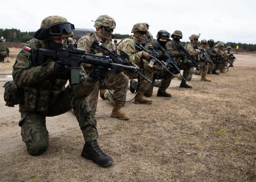
<instances>
[{"instance_id":1,"label":"second kneeling soldier from the front, in tan camouflage and tan boots","mask_svg":"<svg viewBox=\"0 0 256 182\"><path fill-rule=\"evenodd\" d=\"M110 50L115 50L115 45L110 41L115 25L115 20L112 17L108 15L99 16L94 23L96 31L81 37L77 42L77 47L86 50L86 53L88 54L96 54L100 56L108 55L108 51L104 51L99 45L95 44L94 41L98 40ZM93 70L93 65L82 64L82 66L87 73L90 73ZM111 117L120 120L128 120L129 117L121 111L121 101L125 101L128 83L128 77L121 70L115 74L108 71L106 77L95 85L93 92L89 95L93 113L95 114L97 109L99 89L111 89L114 91L113 96L116 99L114 100ZM102 90L101 92L105 92L105 90ZM104 95L104 93L100 94Z\"/></svg>"}]
</instances>

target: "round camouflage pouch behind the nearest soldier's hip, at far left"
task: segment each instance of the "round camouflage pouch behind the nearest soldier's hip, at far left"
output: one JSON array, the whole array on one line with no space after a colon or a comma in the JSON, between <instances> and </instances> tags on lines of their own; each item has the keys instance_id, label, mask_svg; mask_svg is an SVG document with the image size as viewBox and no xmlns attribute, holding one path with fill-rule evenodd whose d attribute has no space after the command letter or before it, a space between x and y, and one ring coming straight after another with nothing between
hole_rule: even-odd
<instances>
[{"instance_id":1,"label":"round camouflage pouch behind the nearest soldier's hip, at far left","mask_svg":"<svg viewBox=\"0 0 256 182\"><path fill-rule=\"evenodd\" d=\"M13 81L4 84L4 101L6 106L14 107L22 103L22 89L18 88Z\"/></svg>"}]
</instances>

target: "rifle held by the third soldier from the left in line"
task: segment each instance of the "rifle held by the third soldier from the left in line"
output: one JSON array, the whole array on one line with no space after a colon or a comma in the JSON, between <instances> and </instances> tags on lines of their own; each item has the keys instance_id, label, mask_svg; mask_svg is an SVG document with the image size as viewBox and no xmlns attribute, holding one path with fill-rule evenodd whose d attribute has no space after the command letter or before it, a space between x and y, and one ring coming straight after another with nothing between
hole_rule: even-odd
<instances>
[{"instance_id":1,"label":"rifle held by the third soldier from the left in line","mask_svg":"<svg viewBox=\"0 0 256 182\"><path fill-rule=\"evenodd\" d=\"M135 47L136 47L137 49L144 50L145 52L147 52L148 54L150 54L150 55L153 57L153 58L150 60L150 62L149 62L149 65L151 65L151 67L153 67L153 64L154 64L154 63L157 63L157 64L160 66L158 70L161 70L161 66L163 65L163 66L166 68L166 71L168 71L171 75L173 75L173 76L176 78L176 76L175 76L172 72L170 72L169 67L166 67L166 63L160 61L159 59L157 59L158 54L157 54L157 52L156 52L155 50L153 50L153 51L147 50L147 49L145 49L145 47L143 47L143 46L142 46L140 43L138 43L138 42L136 42Z\"/></svg>"}]
</instances>

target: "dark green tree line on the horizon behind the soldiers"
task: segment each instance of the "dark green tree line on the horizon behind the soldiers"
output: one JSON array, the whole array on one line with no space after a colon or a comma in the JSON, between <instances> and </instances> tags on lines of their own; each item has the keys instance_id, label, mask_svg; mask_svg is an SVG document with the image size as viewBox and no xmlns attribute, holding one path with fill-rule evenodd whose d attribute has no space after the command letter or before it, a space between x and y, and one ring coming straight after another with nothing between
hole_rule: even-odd
<instances>
[{"instance_id":1,"label":"dark green tree line on the horizon behind the soldiers","mask_svg":"<svg viewBox=\"0 0 256 182\"><path fill-rule=\"evenodd\" d=\"M3 36L7 42L21 42L21 43L26 43L30 39L34 38L34 34L36 32L21 32L20 30L17 29L1 29L0 28L0 38ZM116 37L120 38L127 38L131 37L129 34L113 34ZM216 44L220 42L217 41ZM187 44L188 42L180 42L183 46ZM239 48L245 49L247 51L256 51L256 44L242 44L242 43L235 43L235 42L227 42L223 43L224 47L231 46L231 48L236 48L238 45Z\"/></svg>"}]
</instances>

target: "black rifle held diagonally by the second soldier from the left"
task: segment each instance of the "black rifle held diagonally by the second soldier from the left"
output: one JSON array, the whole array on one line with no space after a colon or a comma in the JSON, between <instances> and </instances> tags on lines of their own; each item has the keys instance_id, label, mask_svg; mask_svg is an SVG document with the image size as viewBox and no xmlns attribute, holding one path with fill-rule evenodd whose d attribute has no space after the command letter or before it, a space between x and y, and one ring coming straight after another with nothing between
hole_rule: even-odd
<instances>
[{"instance_id":1,"label":"black rifle held diagonally by the second soldier from the left","mask_svg":"<svg viewBox=\"0 0 256 182\"><path fill-rule=\"evenodd\" d=\"M112 59L115 63L117 64L122 64L122 65L125 65L125 64L128 64L129 66L131 66L131 63L126 61L126 59L129 59L130 56L129 54L127 54L125 51L121 50L121 53L120 55L117 54L117 51L116 50L110 50L109 48L107 48L105 45L103 45L100 41L98 40L95 40L94 41L95 44L99 45L102 49L106 50L109 52L108 56L110 57L110 59ZM115 67L114 69L110 70L110 73L115 73L116 70L118 69L118 67ZM140 70L132 70L134 71L135 73L137 73L138 75L142 76L146 81L148 81L149 83L152 83L151 80L148 80L143 74L141 74L141 71L142 69Z\"/></svg>"}]
</instances>

